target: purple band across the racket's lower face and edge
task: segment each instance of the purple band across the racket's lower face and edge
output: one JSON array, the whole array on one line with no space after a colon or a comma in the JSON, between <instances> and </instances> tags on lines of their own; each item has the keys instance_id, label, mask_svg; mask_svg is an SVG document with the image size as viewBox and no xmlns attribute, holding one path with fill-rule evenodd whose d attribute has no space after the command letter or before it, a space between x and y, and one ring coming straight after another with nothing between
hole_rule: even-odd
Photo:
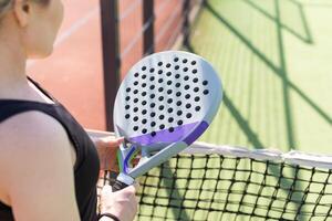
<instances>
[{"instance_id":1,"label":"purple band across the racket's lower face and edge","mask_svg":"<svg viewBox=\"0 0 332 221\"><path fill-rule=\"evenodd\" d=\"M194 133L191 131L195 127L197 127ZM174 128L174 131L169 131L168 129L163 129L156 131L155 136L152 134L146 134L137 137L131 137L128 140L132 143L139 144L142 146L148 146L152 144L158 143L175 143L181 140L185 136L189 134L187 138L185 138L186 144L191 144L197 137L199 137L204 130L208 127L206 122L196 122L191 124L185 124L181 126L177 126ZM193 134L191 134L193 133Z\"/></svg>"}]
</instances>

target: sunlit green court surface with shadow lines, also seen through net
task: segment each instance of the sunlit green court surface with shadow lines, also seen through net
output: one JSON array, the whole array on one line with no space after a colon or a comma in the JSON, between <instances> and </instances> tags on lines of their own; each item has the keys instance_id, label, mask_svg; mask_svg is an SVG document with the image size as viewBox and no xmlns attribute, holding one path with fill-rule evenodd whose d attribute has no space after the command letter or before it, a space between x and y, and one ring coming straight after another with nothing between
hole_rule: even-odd
<instances>
[{"instance_id":1,"label":"sunlit green court surface with shadow lines, also seen through net","mask_svg":"<svg viewBox=\"0 0 332 221\"><path fill-rule=\"evenodd\" d=\"M212 63L222 77L225 96L217 118L200 140L217 145L277 148L282 151L297 149L332 155L331 22L332 2L330 0L207 1L195 21L189 42L184 49ZM139 213L143 215L139 220L207 219L206 211L195 212L195 209L179 211L178 208L184 203L189 203L187 206L190 207L194 202L176 199L187 197L185 194L193 198L212 194L211 191L199 192L197 187L210 190L216 187L216 181L167 179L167 176L175 172L174 168L168 168L169 165L175 164L175 160L170 160L162 169L154 169L151 176L141 180L143 188L141 202L145 203L139 208ZM206 164L199 160L186 164L184 160L179 166L189 168L201 167ZM211 160L209 164L220 162ZM228 166L231 167L231 164L234 162L229 162ZM249 162L247 165L249 166ZM290 180L284 181L276 180L280 175L280 168L273 170L272 173L274 172L277 178L271 178L267 183L278 182L288 187L294 182L292 179L294 171L287 172ZM189 173L191 178L204 179L206 176L216 178L218 172L218 170L211 170L209 173L201 173L201 170L187 169L176 171L176 176L186 177ZM248 179L248 175L224 172L225 177L238 176L243 180ZM159 179L160 176L164 179ZM310 173L303 177L308 179L308 176ZM330 179L329 182L332 183L332 180ZM308 183L295 181L293 185L303 191L305 188L308 190ZM177 188L178 191L172 191ZM239 188L247 188L249 192L262 189L250 188L245 183L240 183ZM322 186L309 188L319 190ZM188 189L189 192L184 192ZM264 191L269 190L264 189ZM288 194L287 188L283 193ZM295 194L292 197L295 200L303 198L301 192ZM148 196L155 196L155 198ZM237 200L237 197L234 196L234 199L227 200ZM214 200L220 202L226 200L222 192L218 192ZM314 202L317 199L313 196L308 197L307 200ZM328 201L331 202L331 199ZM325 199L325 202L328 201ZM157 202L164 206L154 207ZM211 207L211 202L208 201L196 203L203 203L200 207ZM263 201L261 203L264 204ZM293 203L290 207L297 209L298 206ZM305 208L305 211L310 210L312 208ZM145 214L147 215L144 217ZM149 214L154 214L154 219L149 219ZM208 220L235 220L234 217L227 217L227 214L221 218L220 213L211 212L209 215Z\"/></svg>"}]
</instances>

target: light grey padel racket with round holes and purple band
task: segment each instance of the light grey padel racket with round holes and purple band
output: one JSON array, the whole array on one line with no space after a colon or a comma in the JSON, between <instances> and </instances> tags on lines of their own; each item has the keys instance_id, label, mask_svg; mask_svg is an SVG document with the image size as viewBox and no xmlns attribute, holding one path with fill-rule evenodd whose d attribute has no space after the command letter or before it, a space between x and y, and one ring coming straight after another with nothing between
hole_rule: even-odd
<instances>
[{"instance_id":1,"label":"light grey padel racket with round holes and purple band","mask_svg":"<svg viewBox=\"0 0 332 221\"><path fill-rule=\"evenodd\" d=\"M179 51L149 55L122 82L114 128L125 137L118 151L120 190L194 143L212 122L222 99L221 82L203 57ZM132 159L139 155L133 166Z\"/></svg>"}]
</instances>

